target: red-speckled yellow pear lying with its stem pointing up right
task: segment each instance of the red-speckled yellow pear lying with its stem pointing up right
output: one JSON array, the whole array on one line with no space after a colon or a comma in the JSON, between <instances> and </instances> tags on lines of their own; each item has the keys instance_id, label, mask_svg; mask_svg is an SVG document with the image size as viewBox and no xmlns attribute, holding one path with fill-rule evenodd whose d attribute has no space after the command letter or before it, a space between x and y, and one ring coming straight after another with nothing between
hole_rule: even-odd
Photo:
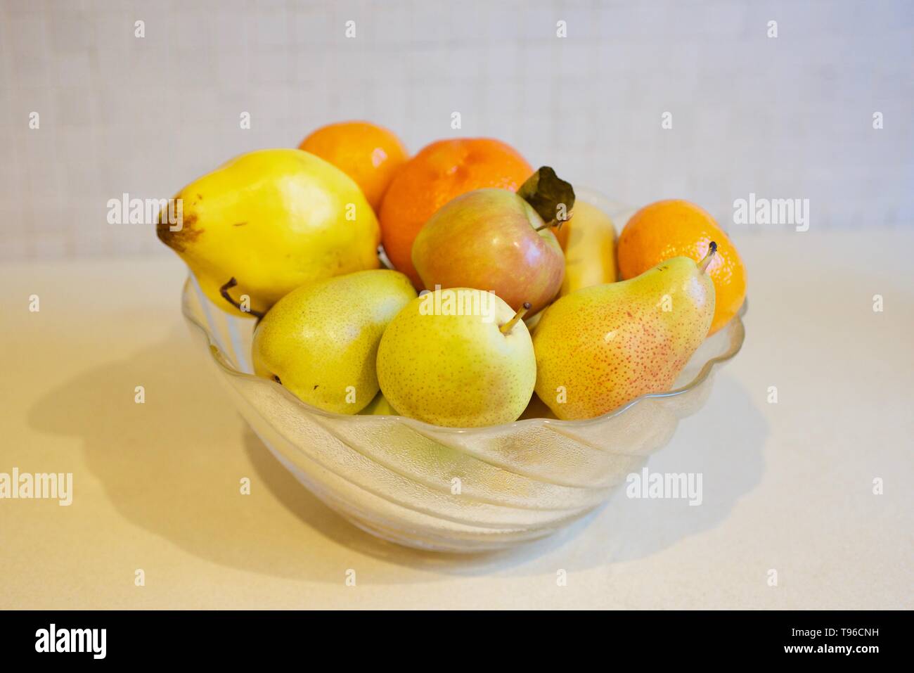
<instances>
[{"instance_id":1,"label":"red-speckled yellow pear lying with its stem pointing up right","mask_svg":"<svg viewBox=\"0 0 914 673\"><path fill-rule=\"evenodd\" d=\"M715 251L712 241L698 264L674 257L631 280L566 294L546 309L533 337L537 395L558 418L593 418L670 389L714 317L714 283L705 270Z\"/></svg>"}]
</instances>

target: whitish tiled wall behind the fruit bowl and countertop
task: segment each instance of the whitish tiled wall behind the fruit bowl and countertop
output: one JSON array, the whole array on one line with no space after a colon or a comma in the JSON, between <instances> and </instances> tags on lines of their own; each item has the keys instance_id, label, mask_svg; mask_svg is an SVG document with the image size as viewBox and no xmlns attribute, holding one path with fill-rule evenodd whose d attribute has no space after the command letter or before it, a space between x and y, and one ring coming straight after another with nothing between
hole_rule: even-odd
<instances>
[{"instance_id":1,"label":"whitish tiled wall behind the fruit bowl and countertop","mask_svg":"<svg viewBox=\"0 0 914 673\"><path fill-rule=\"evenodd\" d=\"M817 229L914 226L910 0L2 0L0 19L0 258L164 252L108 224L107 200L169 197L353 118L411 150L495 136L612 198L690 198L725 223L755 192L809 198Z\"/></svg>"}]
</instances>

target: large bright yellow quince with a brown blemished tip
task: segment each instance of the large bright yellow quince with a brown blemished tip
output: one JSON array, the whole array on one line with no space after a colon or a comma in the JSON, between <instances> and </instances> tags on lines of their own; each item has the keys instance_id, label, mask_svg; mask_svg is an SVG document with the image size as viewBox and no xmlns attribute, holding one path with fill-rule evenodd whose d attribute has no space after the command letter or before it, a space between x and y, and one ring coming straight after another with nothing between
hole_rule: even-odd
<instances>
[{"instance_id":1,"label":"large bright yellow quince with a brown blemished tip","mask_svg":"<svg viewBox=\"0 0 914 673\"><path fill-rule=\"evenodd\" d=\"M380 265L380 230L361 190L301 150L240 155L175 198L182 219L160 219L159 239L235 315L262 315L296 287Z\"/></svg>"}]
</instances>

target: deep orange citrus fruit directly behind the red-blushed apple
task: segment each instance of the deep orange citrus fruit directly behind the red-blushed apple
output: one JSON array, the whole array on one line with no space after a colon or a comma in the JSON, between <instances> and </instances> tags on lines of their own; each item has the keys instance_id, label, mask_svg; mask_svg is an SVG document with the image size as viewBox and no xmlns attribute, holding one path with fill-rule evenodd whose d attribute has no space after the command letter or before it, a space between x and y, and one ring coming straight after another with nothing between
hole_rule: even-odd
<instances>
[{"instance_id":1,"label":"deep orange citrus fruit directly behind the red-blushed apple","mask_svg":"<svg viewBox=\"0 0 914 673\"><path fill-rule=\"evenodd\" d=\"M388 259L421 289L411 253L412 241L426 220L452 198L473 189L516 191L532 173L533 168L514 148L491 138L440 140L426 145L400 168L381 204L378 219Z\"/></svg>"}]
</instances>

